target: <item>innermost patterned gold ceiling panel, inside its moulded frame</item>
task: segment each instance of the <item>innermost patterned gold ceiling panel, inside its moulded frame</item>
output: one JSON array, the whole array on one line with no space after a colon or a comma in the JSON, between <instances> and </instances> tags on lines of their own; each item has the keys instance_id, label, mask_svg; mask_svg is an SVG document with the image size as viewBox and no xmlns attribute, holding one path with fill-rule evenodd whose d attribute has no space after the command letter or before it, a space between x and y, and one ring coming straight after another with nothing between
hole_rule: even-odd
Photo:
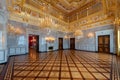
<instances>
[{"instance_id":1,"label":"innermost patterned gold ceiling panel, inside its moulded frame","mask_svg":"<svg viewBox=\"0 0 120 80\"><path fill-rule=\"evenodd\" d=\"M35 0L41 2L42 0ZM43 0L64 13L70 13L92 0Z\"/></svg>"}]
</instances>

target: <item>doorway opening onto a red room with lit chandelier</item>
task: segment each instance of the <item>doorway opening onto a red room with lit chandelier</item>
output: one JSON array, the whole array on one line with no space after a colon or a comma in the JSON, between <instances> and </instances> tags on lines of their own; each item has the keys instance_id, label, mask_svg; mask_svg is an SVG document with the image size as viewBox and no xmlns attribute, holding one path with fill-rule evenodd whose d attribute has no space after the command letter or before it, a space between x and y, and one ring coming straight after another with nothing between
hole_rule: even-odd
<instances>
[{"instance_id":1,"label":"doorway opening onto a red room with lit chandelier","mask_svg":"<svg viewBox=\"0 0 120 80\"><path fill-rule=\"evenodd\" d=\"M29 35L29 52L39 52L39 35Z\"/></svg>"}]
</instances>

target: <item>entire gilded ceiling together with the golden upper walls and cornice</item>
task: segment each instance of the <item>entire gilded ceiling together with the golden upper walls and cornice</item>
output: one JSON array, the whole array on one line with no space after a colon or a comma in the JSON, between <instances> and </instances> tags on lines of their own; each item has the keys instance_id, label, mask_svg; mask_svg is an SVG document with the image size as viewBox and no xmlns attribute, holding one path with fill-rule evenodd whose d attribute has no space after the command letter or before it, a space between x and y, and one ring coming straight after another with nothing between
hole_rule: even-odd
<instances>
[{"instance_id":1,"label":"entire gilded ceiling together with the golden upper walls and cornice","mask_svg":"<svg viewBox=\"0 0 120 80\"><path fill-rule=\"evenodd\" d=\"M86 29L108 24L113 19L114 1L109 0L7 0L10 19L40 26L43 19L53 21L54 29ZM107 6L106 6L107 5ZM113 7L112 7L113 6ZM115 10L115 9L114 9ZM101 21L101 22L100 22ZM84 26L84 27L83 27ZM74 28L76 27L76 28Z\"/></svg>"}]
</instances>

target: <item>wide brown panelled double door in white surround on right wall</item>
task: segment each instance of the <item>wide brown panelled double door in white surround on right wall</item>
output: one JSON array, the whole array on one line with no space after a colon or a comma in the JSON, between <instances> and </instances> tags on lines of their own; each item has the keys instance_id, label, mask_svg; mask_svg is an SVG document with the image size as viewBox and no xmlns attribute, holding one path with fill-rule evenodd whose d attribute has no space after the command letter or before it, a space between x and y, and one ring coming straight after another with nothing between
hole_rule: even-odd
<instances>
[{"instance_id":1,"label":"wide brown panelled double door in white surround on right wall","mask_svg":"<svg viewBox=\"0 0 120 80\"><path fill-rule=\"evenodd\" d=\"M98 52L110 53L110 35L98 36Z\"/></svg>"}]
</instances>

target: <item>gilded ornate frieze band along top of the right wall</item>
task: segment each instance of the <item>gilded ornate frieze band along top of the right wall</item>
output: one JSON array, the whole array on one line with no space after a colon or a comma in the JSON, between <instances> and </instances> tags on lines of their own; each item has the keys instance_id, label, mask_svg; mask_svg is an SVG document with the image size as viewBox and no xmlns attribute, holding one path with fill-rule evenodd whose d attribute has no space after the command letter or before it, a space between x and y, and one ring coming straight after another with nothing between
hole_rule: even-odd
<instances>
[{"instance_id":1,"label":"gilded ornate frieze band along top of the right wall","mask_svg":"<svg viewBox=\"0 0 120 80\"><path fill-rule=\"evenodd\" d=\"M94 13L88 17L78 19L71 22L70 25L74 25L77 29L94 28L95 26L102 26L107 24L113 24L114 16L111 14L104 14L103 11Z\"/></svg>"}]
</instances>

